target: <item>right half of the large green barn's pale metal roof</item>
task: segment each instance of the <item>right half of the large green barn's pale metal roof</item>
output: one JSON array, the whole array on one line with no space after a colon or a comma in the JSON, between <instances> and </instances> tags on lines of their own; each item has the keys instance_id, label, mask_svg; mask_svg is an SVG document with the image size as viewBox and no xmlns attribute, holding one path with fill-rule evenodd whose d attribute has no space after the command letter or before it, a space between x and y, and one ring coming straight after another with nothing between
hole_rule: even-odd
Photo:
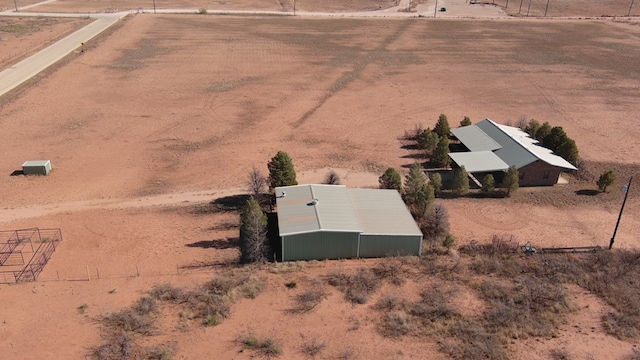
<instances>
[{"instance_id":1,"label":"right half of the large green barn's pale metal roof","mask_svg":"<svg viewBox=\"0 0 640 360\"><path fill-rule=\"evenodd\" d=\"M396 190L353 188L348 191L363 234L422 236Z\"/></svg>"}]
</instances>

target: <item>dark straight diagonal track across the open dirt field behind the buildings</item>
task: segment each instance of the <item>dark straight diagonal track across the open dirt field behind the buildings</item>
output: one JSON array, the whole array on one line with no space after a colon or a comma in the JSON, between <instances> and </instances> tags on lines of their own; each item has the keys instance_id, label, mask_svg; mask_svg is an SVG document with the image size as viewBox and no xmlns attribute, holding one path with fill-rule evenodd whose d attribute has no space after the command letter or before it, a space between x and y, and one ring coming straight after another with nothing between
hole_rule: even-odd
<instances>
[{"instance_id":1,"label":"dark straight diagonal track across the open dirt field behind the buildings","mask_svg":"<svg viewBox=\"0 0 640 360\"><path fill-rule=\"evenodd\" d=\"M302 126L318 109L320 109L329 99L347 87L353 80L360 78L360 74L373 61L380 58L380 53L386 51L387 46L396 41L413 24L412 21L404 21L402 26L391 35L387 36L380 45L366 54L360 61L356 62L351 71L344 73L331 86L331 89L320 98L320 100L294 124L294 128Z\"/></svg>"}]
</instances>

